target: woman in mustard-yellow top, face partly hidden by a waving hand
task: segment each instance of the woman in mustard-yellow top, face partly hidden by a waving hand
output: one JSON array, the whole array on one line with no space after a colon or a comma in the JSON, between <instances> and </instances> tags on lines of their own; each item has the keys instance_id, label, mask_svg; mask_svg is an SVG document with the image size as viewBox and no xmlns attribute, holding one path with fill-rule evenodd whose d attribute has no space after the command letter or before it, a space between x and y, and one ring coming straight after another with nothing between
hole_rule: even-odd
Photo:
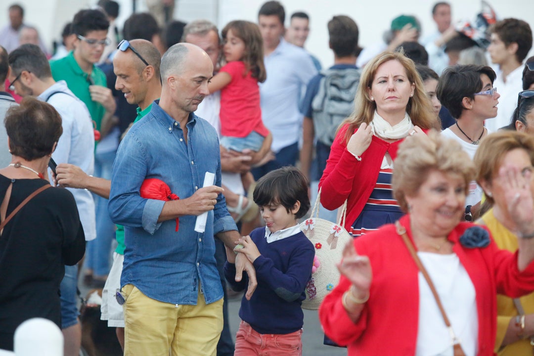
<instances>
[{"instance_id":1,"label":"woman in mustard-yellow top, face partly hidden by a waving hand","mask_svg":"<svg viewBox=\"0 0 534 356\"><path fill-rule=\"evenodd\" d=\"M527 187L525 194L534 194L534 137L515 131L492 133L478 148L474 162L476 180L493 205L477 223L488 228L499 248L515 252L520 247L517 233L521 227L508 209L508 183L502 180L500 172L506 167L520 172L522 184ZM497 314L495 351L500 356L532 355L534 293L515 299L497 296Z\"/></svg>"}]
</instances>

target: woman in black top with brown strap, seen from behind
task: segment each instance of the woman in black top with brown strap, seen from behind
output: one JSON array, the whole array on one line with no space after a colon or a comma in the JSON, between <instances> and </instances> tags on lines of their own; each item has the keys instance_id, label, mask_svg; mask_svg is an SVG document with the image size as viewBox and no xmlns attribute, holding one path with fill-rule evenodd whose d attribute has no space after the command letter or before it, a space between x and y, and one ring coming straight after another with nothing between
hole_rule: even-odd
<instances>
[{"instance_id":1,"label":"woman in black top with brown strap, seen from behind","mask_svg":"<svg viewBox=\"0 0 534 356\"><path fill-rule=\"evenodd\" d=\"M65 265L85 252L74 197L46 178L62 133L61 117L46 102L25 98L4 120L11 164L0 169L0 220L32 197L0 231L0 349L13 350L15 329L30 318L61 327L59 284ZM45 178L46 177L46 178Z\"/></svg>"}]
</instances>

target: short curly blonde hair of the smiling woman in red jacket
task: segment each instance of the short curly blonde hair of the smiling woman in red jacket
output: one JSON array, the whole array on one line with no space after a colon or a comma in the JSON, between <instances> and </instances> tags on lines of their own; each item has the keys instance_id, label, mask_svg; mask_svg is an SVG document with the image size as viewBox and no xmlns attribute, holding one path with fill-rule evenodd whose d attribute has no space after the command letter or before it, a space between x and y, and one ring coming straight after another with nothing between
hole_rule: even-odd
<instances>
[{"instance_id":1,"label":"short curly blonde hair of the smiling woman in red jacket","mask_svg":"<svg viewBox=\"0 0 534 356\"><path fill-rule=\"evenodd\" d=\"M466 194L475 175L475 165L461 145L432 130L414 135L399 145L395 169L391 177L393 195L404 212L408 211L406 196L417 194L432 170L457 175L464 180Z\"/></svg>"}]
</instances>

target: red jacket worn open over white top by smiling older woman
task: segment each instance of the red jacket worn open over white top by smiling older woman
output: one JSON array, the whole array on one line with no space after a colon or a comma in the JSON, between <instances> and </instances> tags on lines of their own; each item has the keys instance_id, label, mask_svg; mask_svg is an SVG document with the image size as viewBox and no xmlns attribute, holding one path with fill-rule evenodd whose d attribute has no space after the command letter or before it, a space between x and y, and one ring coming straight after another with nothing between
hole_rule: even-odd
<instances>
[{"instance_id":1,"label":"red jacket worn open over white top by smiling older woman","mask_svg":"<svg viewBox=\"0 0 534 356\"><path fill-rule=\"evenodd\" d=\"M400 219L412 239L410 216ZM497 293L519 297L534 290L534 263L517 270L517 252L499 250L491 240L485 248L466 248L458 241L470 223L460 223L449 234L475 287L478 313L478 355L493 355L497 330ZM344 276L319 308L325 334L348 346L348 355L414 355L419 320L418 268L392 224L354 240L360 255L371 261L370 298L357 323L341 304L350 282ZM436 320L442 322L442 320Z\"/></svg>"}]
</instances>

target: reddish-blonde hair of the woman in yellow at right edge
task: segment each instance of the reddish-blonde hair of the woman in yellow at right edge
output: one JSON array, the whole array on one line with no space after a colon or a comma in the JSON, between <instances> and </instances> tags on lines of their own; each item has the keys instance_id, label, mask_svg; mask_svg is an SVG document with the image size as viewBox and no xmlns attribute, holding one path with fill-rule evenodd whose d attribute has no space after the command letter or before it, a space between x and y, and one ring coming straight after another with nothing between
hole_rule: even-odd
<instances>
[{"instance_id":1,"label":"reddish-blonde hair of the woman in yellow at right edge","mask_svg":"<svg viewBox=\"0 0 534 356\"><path fill-rule=\"evenodd\" d=\"M499 174L504 156L516 148L524 149L534 165L534 137L520 131L500 130L482 140L476 149L473 161L476 167L476 181L490 183ZM486 200L494 203L493 197L486 194Z\"/></svg>"}]
</instances>

